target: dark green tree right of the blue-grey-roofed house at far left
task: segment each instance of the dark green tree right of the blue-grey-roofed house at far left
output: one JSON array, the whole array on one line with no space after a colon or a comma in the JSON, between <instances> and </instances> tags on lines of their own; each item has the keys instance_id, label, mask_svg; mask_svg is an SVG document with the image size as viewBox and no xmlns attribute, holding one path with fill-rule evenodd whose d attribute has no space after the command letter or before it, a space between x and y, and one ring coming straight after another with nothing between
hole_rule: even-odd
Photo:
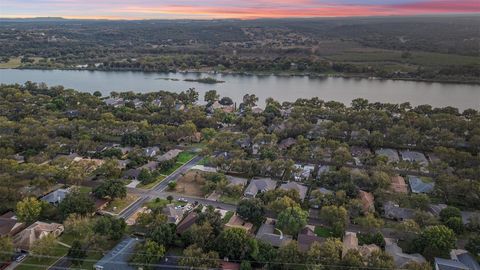
<instances>
[{"instance_id":1,"label":"dark green tree right of the blue-grey-roofed house at far left","mask_svg":"<svg viewBox=\"0 0 480 270\"><path fill-rule=\"evenodd\" d=\"M95 211L95 202L88 194L74 191L65 196L58 205L58 209L63 218L67 218L70 214L86 216Z\"/></svg>"}]
</instances>

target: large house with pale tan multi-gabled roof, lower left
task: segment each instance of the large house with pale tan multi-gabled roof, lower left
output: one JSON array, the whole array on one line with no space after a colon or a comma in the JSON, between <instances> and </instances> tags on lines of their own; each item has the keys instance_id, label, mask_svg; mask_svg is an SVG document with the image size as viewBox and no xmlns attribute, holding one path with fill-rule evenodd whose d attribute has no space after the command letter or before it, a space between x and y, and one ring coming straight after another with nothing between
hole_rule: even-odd
<instances>
[{"instance_id":1,"label":"large house with pale tan multi-gabled roof, lower left","mask_svg":"<svg viewBox=\"0 0 480 270\"><path fill-rule=\"evenodd\" d=\"M63 233L64 227L58 223L45 223L37 221L13 237L13 245L21 250L30 250L35 241L47 235L58 237Z\"/></svg>"}]
</instances>

